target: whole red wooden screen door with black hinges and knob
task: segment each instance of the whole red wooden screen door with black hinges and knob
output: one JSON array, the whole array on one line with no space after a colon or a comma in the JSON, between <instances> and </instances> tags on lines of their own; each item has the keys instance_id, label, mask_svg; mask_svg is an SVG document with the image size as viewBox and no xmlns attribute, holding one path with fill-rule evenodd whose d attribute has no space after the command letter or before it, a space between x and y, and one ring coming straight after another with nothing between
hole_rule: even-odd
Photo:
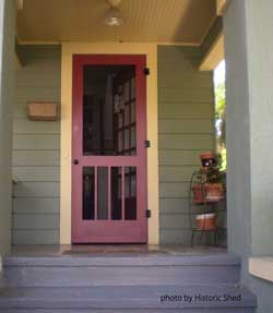
<instances>
[{"instance_id":1,"label":"whole red wooden screen door with black hinges and knob","mask_svg":"<svg viewBox=\"0 0 273 313\"><path fill-rule=\"evenodd\" d=\"M145 62L73 57L73 243L147 241Z\"/></svg>"}]
</instances>

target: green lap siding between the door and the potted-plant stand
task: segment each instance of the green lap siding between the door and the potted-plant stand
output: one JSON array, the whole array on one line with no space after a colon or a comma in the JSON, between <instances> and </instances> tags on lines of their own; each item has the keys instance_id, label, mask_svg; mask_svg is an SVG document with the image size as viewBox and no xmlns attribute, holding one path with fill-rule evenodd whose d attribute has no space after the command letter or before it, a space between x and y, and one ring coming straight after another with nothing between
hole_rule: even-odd
<instances>
[{"instance_id":1,"label":"green lap siding between the door and the potted-plant stand","mask_svg":"<svg viewBox=\"0 0 273 313\"><path fill-rule=\"evenodd\" d=\"M198 48L158 47L161 243L190 243L189 181L201 152L214 148L212 73Z\"/></svg>"}]
</instances>

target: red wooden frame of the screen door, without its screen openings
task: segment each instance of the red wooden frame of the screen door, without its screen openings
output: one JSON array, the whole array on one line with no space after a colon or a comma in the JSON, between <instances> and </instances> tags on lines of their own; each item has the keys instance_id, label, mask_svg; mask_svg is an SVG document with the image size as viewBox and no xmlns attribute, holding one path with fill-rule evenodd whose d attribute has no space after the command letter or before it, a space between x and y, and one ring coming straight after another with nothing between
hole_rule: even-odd
<instances>
[{"instance_id":1,"label":"red wooden frame of the screen door, without its screen openings","mask_svg":"<svg viewBox=\"0 0 273 313\"><path fill-rule=\"evenodd\" d=\"M136 156L88 156L82 155L82 110L83 110L83 67L94 65L134 65L136 84ZM74 55L73 56L73 103L72 103L72 243L147 243L147 151L146 140L146 57L142 55ZM136 220L83 220L81 214L82 198L82 168L83 166L136 166L138 165L138 207ZM73 160L78 159L79 165ZM108 170L110 170L108 168ZM109 174L109 173L108 173ZM95 174L95 177L97 177ZM141 180L140 180L141 179ZM95 188L96 192L96 188ZM110 195L108 195L110 196ZM96 196L95 196L96 198ZM80 203L80 204L79 204ZM96 203L96 201L95 201ZM80 205L80 207L79 207ZM108 207L109 209L109 207ZM110 226L109 226L110 224ZM98 236L102 228L104 236ZM112 228L112 229L111 229ZM111 233L111 236L110 236ZM116 236L118 233L118 236ZM126 238L127 233L129 238ZM112 240L115 238L115 241Z\"/></svg>"}]
</instances>

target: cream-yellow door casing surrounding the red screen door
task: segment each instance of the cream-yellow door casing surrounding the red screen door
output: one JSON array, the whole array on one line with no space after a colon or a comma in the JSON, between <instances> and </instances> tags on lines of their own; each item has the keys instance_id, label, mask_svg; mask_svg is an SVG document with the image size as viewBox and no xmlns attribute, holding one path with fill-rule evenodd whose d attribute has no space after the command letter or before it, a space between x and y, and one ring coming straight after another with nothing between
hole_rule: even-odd
<instances>
[{"instance_id":1,"label":"cream-yellow door casing surrounding the red screen door","mask_svg":"<svg viewBox=\"0 0 273 313\"><path fill-rule=\"evenodd\" d=\"M60 244L71 244L72 189L72 59L73 55L145 55L147 76L147 203L149 244L159 243L158 214L158 115L157 44L155 43L62 43L61 44L61 152L60 152Z\"/></svg>"}]
</instances>

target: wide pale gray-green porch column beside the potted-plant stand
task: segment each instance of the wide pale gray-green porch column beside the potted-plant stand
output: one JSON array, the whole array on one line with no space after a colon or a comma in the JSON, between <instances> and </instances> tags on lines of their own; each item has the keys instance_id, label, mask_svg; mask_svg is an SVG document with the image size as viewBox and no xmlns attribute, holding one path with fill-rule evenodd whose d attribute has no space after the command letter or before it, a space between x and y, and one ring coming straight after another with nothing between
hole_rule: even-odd
<instances>
[{"instance_id":1,"label":"wide pale gray-green porch column beside the potted-plant stand","mask_svg":"<svg viewBox=\"0 0 273 313\"><path fill-rule=\"evenodd\" d=\"M228 2L228 248L242 256L242 280L258 294L259 312L273 312L273 285L248 272L248 257L273 254L273 1Z\"/></svg>"}]
</instances>

